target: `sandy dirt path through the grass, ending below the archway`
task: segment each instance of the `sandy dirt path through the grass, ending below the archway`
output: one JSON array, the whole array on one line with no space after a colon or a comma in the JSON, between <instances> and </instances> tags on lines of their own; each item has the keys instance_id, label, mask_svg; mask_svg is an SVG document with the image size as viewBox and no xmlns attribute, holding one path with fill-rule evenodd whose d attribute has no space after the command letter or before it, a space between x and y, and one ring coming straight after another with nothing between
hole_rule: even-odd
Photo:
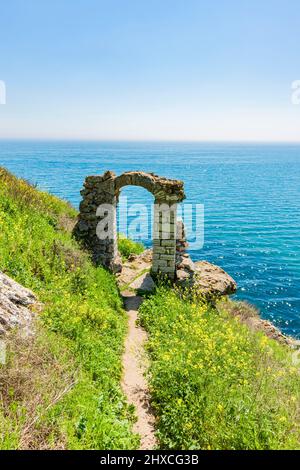
<instances>
[{"instance_id":1,"label":"sandy dirt path through the grass, ending below the archway","mask_svg":"<svg viewBox=\"0 0 300 470\"><path fill-rule=\"evenodd\" d=\"M136 409L137 422L133 431L141 436L140 450L151 450L156 446L154 435L155 418L151 411L148 384L145 379L147 359L144 343L147 334L136 324L138 309L143 298L131 291L123 292L125 309L128 314L128 335L125 341L123 355L122 389L128 402Z\"/></svg>"}]
</instances>

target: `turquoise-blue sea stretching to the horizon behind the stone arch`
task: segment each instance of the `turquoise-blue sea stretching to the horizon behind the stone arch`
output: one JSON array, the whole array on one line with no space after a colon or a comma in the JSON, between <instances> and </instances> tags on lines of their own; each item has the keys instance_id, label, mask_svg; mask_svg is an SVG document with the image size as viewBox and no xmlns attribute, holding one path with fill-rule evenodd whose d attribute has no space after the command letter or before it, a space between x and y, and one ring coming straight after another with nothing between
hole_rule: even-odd
<instances>
[{"instance_id":1,"label":"turquoise-blue sea stretching to the horizon behind the stone arch","mask_svg":"<svg viewBox=\"0 0 300 470\"><path fill-rule=\"evenodd\" d=\"M300 338L299 145L2 141L0 165L76 207L87 175L182 179L187 202L205 207L204 247L192 258L222 266L238 298ZM124 192L129 203L151 202L143 189Z\"/></svg>"}]
</instances>

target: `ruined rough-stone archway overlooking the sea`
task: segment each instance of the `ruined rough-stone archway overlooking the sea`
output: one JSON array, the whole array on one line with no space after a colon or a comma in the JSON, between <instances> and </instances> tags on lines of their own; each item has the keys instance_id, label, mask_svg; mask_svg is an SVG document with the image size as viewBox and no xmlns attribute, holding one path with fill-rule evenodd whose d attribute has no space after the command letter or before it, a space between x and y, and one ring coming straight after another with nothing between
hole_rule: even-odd
<instances>
[{"instance_id":1,"label":"ruined rough-stone archway overlooking the sea","mask_svg":"<svg viewBox=\"0 0 300 470\"><path fill-rule=\"evenodd\" d=\"M147 189L154 196L152 272L175 277L177 204L184 198L183 182L153 173L130 171L116 176L88 176L81 191L80 214L74 229L75 237L92 252L96 264L109 270L121 270L117 244L117 204L122 187L133 185ZM112 230L103 239L98 228L110 217Z\"/></svg>"}]
</instances>

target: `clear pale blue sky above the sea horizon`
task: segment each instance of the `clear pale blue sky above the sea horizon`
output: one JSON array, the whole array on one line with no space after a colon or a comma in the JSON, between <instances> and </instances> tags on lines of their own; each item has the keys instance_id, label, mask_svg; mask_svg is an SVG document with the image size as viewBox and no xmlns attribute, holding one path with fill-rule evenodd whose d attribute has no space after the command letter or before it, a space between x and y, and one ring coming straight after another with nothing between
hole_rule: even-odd
<instances>
[{"instance_id":1,"label":"clear pale blue sky above the sea horizon","mask_svg":"<svg viewBox=\"0 0 300 470\"><path fill-rule=\"evenodd\" d=\"M299 0L1 0L0 138L300 141Z\"/></svg>"}]
</instances>

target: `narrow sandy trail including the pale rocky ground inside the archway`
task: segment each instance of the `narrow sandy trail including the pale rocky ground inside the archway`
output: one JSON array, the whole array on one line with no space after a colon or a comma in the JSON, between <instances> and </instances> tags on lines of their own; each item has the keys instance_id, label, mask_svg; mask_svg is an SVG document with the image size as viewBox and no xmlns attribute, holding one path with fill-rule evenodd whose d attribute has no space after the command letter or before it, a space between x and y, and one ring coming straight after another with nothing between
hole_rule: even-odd
<instances>
[{"instance_id":1,"label":"narrow sandy trail including the pale rocky ground inside the archway","mask_svg":"<svg viewBox=\"0 0 300 470\"><path fill-rule=\"evenodd\" d=\"M150 406L150 393L146 380L148 361L145 353L146 331L137 324L138 309L143 297L136 294L138 287L149 285L145 281L145 268L149 267L149 253L139 256L124 266L118 279L119 286L128 286L122 291L124 307L128 315L128 333L122 358L122 389L128 403L134 405L137 421L133 431L140 435L140 450L152 450L157 446L155 438L155 417ZM140 279L140 281L138 281Z\"/></svg>"}]
</instances>

